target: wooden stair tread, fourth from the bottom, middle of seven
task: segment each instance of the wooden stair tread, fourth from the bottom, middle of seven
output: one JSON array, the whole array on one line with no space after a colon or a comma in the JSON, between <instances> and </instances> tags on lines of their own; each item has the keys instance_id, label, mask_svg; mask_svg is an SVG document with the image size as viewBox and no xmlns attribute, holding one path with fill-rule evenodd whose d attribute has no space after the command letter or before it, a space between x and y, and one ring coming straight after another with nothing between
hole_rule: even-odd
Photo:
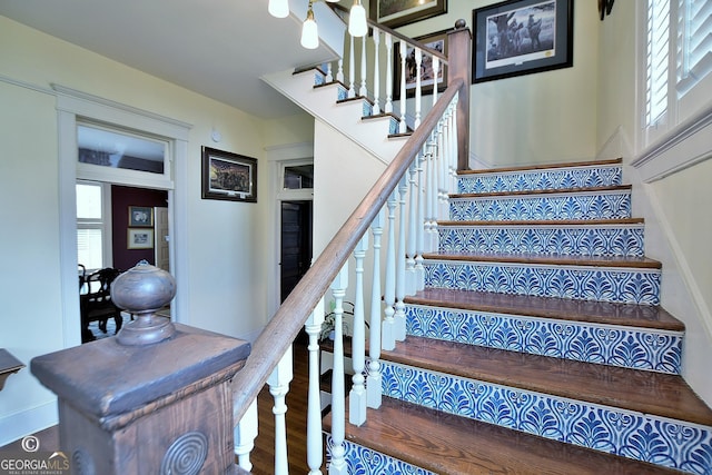
<instances>
[{"instance_id":1,"label":"wooden stair tread, fourth from the bottom, middle of seven","mask_svg":"<svg viewBox=\"0 0 712 475\"><path fill-rule=\"evenodd\" d=\"M424 259L466 260L477 263L533 264L551 266L585 266L585 267L634 267L640 269L660 269L662 264L649 257L629 256L566 256L538 254L506 254L506 253L425 253Z\"/></svg>"}]
</instances>

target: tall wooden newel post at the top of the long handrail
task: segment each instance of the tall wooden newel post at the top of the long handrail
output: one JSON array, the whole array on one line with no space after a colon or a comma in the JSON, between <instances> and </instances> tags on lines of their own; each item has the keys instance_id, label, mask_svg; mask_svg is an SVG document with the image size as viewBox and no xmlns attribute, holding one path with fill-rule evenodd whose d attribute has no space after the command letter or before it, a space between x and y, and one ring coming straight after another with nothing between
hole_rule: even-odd
<instances>
[{"instance_id":1,"label":"tall wooden newel post at the top of the long handrail","mask_svg":"<svg viewBox=\"0 0 712 475\"><path fill-rule=\"evenodd\" d=\"M465 20L457 20L447 32L448 81L462 79L463 89L457 101L457 169L469 169L469 87L472 85L472 32Z\"/></svg>"}]
</instances>

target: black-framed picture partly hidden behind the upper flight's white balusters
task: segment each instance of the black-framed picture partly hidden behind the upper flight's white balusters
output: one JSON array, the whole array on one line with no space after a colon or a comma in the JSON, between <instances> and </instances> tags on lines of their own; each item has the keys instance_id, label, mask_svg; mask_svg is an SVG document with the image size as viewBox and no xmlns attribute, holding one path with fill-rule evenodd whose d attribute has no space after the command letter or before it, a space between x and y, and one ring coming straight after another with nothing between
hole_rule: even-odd
<instances>
[{"instance_id":1,"label":"black-framed picture partly hidden behind the upper flight's white balusters","mask_svg":"<svg viewBox=\"0 0 712 475\"><path fill-rule=\"evenodd\" d=\"M447 57L447 31L443 30L431 34L414 38L418 42L425 44L434 51L438 51ZM400 98L400 42L393 46L393 97ZM405 67L405 92L406 97L415 96L415 83L417 75L417 65L415 62L415 47L406 47L406 67ZM441 61L437 71L437 78L433 70L433 57L429 53L423 53L421 62L421 93L433 93L433 87L437 83L439 92L447 88L447 66Z\"/></svg>"}]
</instances>

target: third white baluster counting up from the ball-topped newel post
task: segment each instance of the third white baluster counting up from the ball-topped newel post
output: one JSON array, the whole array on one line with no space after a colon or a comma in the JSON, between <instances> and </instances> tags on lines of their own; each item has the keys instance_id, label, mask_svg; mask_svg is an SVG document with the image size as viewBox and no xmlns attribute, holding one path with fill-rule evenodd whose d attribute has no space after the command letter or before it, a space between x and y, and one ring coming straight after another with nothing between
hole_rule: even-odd
<instances>
[{"instance_id":1,"label":"third white baluster counting up from the ball-topped newel post","mask_svg":"<svg viewBox=\"0 0 712 475\"><path fill-rule=\"evenodd\" d=\"M324 297L304 326L309 336L309 388L307 399L307 465L309 475L322 473L324 443L322 436L322 396L319 390L319 334L324 323Z\"/></svg>"}]
</instances>

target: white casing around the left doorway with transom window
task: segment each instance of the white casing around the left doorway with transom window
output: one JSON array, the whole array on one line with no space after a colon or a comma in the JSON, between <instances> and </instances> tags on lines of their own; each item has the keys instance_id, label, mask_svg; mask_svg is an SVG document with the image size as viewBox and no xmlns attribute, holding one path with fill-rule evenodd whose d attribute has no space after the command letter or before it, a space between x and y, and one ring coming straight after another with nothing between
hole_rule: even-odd
<instances>
[{"instance_id":1,"label":"white casing around the left doorway with transom window","mask_svg":"<svg viewBox=\"0 0 712 475\"><path fill-rule=\"evenodd\" d=\"M172 180L132 185L168 190L171 207L170 261L177 293L171 309L176 321L188 319L189 293L181 283L188 277L188 249L181 236L188 235L188 137L191 125L110 101L60 85L51 85L57 96L59 139L59 238L65 346L80 344L79 298L77 295L77 120L86 118L164 137L172 144ZM174 265L175 264L175 265Z\"/></svg>"}]
</instances>

